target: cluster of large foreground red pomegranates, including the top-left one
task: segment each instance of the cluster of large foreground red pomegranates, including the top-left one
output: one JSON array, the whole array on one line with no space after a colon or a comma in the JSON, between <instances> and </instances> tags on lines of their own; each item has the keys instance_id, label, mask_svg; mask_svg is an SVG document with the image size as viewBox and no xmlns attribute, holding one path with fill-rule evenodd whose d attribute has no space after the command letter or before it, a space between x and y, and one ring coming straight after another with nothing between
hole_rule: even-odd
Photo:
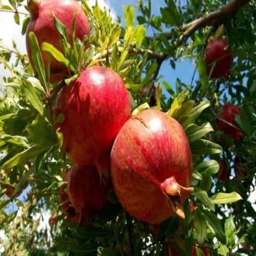
<instances>
[{"instance_id":1,"label":"cluster of large foreground red pomegranates, including the top-left one","mask_svg":"<svg viewBox=\"0 0 256 256\"><path fill-rule=\"evenodd\" d=\"M74 17L74 37L89 37L87 18L74 0L29 0L28 8L27 38L33 31L39 46L48 42L62 51L52 13L66 27L70 42ZM28 39L27 50L34 66ZM42 51L42 57L47 68L48 54ZM50 81L59 82L70 71L52 58L50 73ZM185 131L159 110L131 117L129 94L114 70L85 68L59 92L53 120L74 162L60 188L60 203L70 220L91 223L107 206L111 188L124 209L139 220L157 223L174 213L184 217L182 204L193 191Z\"/></svg>"}]
</instances>

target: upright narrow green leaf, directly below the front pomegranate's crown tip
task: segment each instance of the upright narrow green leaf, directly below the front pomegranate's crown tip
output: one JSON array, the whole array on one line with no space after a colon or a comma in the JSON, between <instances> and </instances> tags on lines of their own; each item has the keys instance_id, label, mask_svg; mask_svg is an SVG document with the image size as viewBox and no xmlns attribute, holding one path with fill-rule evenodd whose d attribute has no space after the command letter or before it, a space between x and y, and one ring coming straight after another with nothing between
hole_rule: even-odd
<instances>
[{"instance_id":1,"label":"upright narrow green leaf, directly below the front pomegranate's crown tip","mask_svg":"<svg viewBox=\"0 0 256 256\"><path fill-rule=\"evenodd\" d=\"M196 207L194 210L194 227L196 230L197 242L199 245L201 245L204 243L206 237L207 225L204 215L198 207Z\"/></svg>"}]
</instances>

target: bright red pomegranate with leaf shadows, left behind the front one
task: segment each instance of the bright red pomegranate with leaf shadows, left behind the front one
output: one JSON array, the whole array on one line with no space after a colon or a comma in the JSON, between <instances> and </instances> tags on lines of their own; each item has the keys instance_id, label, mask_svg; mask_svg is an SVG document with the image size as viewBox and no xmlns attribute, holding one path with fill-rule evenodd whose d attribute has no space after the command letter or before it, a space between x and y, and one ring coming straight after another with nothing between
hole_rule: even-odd
<instances>
[{"instance_id":1,"label":"bright red pomegranate with leaf shadows, left behind the front one","mask_svg":"<svg viewBox=\"0 0 256 256\"><path fill-rule=\"evenodd\" d=\"M58 121L60 114L63 122ZM105 176L113 142L130 116L124 82L106 67L83 70L79 78L63 87L53 110L68 157L79 165L96 165Z\"/></svg>"}]
</instances>

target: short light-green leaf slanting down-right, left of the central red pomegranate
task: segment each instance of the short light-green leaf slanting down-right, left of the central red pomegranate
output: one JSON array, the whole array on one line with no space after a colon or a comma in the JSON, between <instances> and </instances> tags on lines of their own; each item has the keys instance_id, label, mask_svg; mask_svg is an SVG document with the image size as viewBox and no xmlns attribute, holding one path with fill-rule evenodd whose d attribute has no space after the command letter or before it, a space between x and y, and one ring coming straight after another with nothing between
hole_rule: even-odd
<instances>
[{"instance_id":1,"label":"short light-green leaf slanting down-right, left of the central red pomegranate","mask_svg":"<svg viewBox=\"0 0 256 256\"><path fill-rule=\"evenodd\" d=\"M36 91L36 89L33 87L33 85L27 79L22 79L21 88L26 98L31 103L31 105L38 111L38 113L41 116L43 116L44 114L43 99L39 95L39 93Z\"/></svg>"}]
</instances>

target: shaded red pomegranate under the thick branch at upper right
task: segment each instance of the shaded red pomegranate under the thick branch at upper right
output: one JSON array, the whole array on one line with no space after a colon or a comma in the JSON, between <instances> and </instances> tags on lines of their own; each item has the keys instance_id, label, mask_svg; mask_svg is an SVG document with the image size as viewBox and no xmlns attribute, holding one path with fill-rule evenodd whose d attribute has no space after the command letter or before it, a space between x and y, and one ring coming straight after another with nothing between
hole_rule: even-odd
<instances>
[{"instance_id":1,"label":"shaded red pomegranate under the thick branch at upper right","mask_svg":"<svg viewBox=\"0 0 256 256\"><path fill-rule=\"evenodd\" d=\"M205 64L207 75L210 75L212 65L215 65L211 78L227 76L233 62L233 51L226 50L228 42L226 39L215 39L206 46Z\"/></svg>"}]
</instances>

